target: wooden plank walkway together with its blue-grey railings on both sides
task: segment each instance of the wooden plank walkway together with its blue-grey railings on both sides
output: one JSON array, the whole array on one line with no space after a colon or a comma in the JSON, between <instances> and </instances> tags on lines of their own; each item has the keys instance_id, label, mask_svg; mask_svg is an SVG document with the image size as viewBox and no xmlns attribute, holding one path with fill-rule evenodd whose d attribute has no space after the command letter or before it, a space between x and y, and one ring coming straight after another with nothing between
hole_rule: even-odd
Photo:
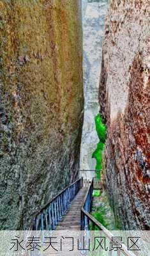
<instances>
[{"instance_id":1,"label":"wooden plank walkway together with its blue-grey railings on both sides","mask_svg":"<svg viewBox=\"0 0 150 256\"><path fill-rule=\"evenodd\" d=\"M91 230L92 227L92 230L101 230L111 242L112 233L90 214L93 189L94 180L75 181L36 214L30 230ZM123 251L110 250L109 256L112 255L135 256L124 245Z\"/></svg>"}]
</instances>

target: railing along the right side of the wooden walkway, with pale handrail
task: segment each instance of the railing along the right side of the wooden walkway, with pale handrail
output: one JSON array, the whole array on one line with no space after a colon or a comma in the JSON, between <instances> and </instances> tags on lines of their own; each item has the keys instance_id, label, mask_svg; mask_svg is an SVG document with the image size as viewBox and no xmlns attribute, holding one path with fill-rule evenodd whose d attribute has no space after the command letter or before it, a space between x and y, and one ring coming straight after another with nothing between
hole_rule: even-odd
<instances>
[{"instance_id":1,"label":"railing along the right side of the wooden walkway, with pale handrail","mask_svg":"<svg viewBox=\"0 0 150 256\"><path fill-rule=\"evenodd\" d=\"M86 196L84 197L84 201L81 207L81 230L89 230L89 224L90 221L92 223L93 230L95 227L98 228L98 230L103 231L103 233L109 238L109 240L112 240L113 234L107 230L99 221L97 221L89 212L91 211L91 202L92 202L92 195L93 195L93 182L94 179L91 182L91 185L89 186L89 189L86 193ZM110 244L111 246L111 244ZM125 256L135 256L133 252L129 252L126 246L122 244L123 250L118 250L117 255L121 255L121 253ZM109 252L109 256L112 255L112 250Z\"/></svg>"}]
</instances>

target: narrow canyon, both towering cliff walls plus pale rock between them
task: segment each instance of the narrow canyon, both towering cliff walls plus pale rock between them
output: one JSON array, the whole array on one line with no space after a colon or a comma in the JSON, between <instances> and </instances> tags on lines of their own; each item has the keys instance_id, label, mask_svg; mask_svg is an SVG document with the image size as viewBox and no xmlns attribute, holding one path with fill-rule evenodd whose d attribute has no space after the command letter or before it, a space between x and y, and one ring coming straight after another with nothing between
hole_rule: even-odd
<instances>
[{"instance_id":1,"label":"narrow canyon, both towering cliff walls plus pale rock between them","mask_svg":"<svg viewBox=\"0 0 150 256\"><path fill-rule=\"evenodd\" d=\"M95 177L96 116L108 216L150 229L148 10L149 0L0 0L1 230L27 230L57 193Z\"/></svg>"}]
</instances>

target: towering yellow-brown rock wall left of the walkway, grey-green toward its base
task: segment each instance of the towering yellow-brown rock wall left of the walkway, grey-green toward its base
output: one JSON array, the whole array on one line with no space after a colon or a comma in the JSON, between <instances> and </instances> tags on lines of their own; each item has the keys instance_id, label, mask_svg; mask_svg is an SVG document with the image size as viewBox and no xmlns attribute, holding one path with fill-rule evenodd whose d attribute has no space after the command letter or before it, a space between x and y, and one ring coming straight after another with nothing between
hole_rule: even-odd
<instances>
[{"instance_id":1,"label":"towering yellow-brown rock wall left of the walkway, grey-green toward its base","mask_svg":"<svg viewBox=\"0 0 150 256\"><path fill-rule=\"evenodd\" d=\"M77 177L82 127L80 1L0 1L0 229Z\"/></svg>"}]
</instances>

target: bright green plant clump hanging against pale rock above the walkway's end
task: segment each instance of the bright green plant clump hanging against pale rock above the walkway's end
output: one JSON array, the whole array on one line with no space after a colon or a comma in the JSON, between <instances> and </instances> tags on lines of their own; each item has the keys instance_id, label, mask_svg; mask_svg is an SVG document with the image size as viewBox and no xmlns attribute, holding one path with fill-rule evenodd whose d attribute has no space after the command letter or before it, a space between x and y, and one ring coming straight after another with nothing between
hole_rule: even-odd
<instances>
[{"instance_id":1,"label":"bright green plant clump hanging against pale rock above the walkway's end","mask_svg":"<svg viewBox=\"0 0 150 256\"><path fill-rule=\"evenodd\" d=\"M96 150L94 150L92 157L96 159L96 178L100 179L100 171L102 170L102 152L105 148L105 140L107 137L107 128L103 124L100 113L95 116L96 132L100 142L97 144Z\"/></svg>"}]
</instances>

